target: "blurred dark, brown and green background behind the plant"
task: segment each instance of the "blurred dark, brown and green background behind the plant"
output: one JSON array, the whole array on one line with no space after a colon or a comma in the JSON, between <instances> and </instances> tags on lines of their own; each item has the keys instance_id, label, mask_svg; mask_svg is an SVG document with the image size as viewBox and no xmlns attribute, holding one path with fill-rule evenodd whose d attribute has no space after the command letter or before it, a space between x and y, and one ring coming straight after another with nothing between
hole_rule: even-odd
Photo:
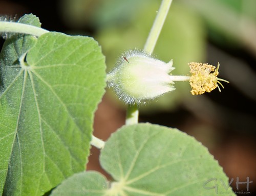
<instances>
[{"instance_id":1,"label":"blurred dark, brown and green background behind the plant","mask_svg":"<svg viewBox=\"0 0 256 196\"><path fill-rule=\"evenodd\" d=\"M42 28L94 37L106 56L107 70L124 51L143 48L160 0L2 1L0 14L39 17ZM3 44L1 39L1 44ZM173 75L189 73L188 62L220 62L225 89L193 96L188 82L140 107L140 121L178 128L201 141L234 181L249 177L256 192L256 1L174 0L154 56L174 61ZM125 120L125 106L107 90L95 116L94 134L106 140ZM87 169L104 173L99 151L91 150ZM242 194L238 194L242 195Z\"/></svg>"}]
</instances>

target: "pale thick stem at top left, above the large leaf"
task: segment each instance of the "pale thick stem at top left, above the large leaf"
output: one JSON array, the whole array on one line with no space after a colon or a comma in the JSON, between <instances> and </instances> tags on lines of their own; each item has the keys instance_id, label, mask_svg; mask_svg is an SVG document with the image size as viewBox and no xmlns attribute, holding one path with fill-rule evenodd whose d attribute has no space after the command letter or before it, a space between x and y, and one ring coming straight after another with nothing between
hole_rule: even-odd
<instances>
[{"instance_id":1,"label":"pale thick stem at top left, above the large leaf","mask_svg":"<svg viewBox=\"0 0 256 196\"><path fill-rule=\"evenodd\" d=\"M48 33L49 31L29 24L0 21L0 32L29 34L39 37L42 34Z\"/></svg>"}]
</instances>

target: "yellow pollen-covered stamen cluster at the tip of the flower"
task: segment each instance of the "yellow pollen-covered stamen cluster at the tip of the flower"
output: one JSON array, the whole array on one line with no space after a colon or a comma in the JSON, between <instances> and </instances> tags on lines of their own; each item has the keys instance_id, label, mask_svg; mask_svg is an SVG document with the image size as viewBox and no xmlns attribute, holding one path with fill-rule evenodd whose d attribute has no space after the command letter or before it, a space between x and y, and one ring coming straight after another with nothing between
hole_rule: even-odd
<instances>
[{"instance_id":1,"label":"yellow pollen-covered stamen cluster at the tip of the flower","mask_svg":"<svg viewBox=\"0 0 256 196\"><path fill-rule=\"evenodd\" d=\"M189 83L192 88L191 94L193 95L203 94L204 92L210 92L216 89L217 87L219 88L219 91L221 91L218 84L220 84L222 88L224 88L224 86L221 84L220 81L229 83L228 81L217 77L219 74L219 63L217 68L207 63L191 62L188 63L188 65L190 67L191 73Z\"/></svg>"}]
</instances>

